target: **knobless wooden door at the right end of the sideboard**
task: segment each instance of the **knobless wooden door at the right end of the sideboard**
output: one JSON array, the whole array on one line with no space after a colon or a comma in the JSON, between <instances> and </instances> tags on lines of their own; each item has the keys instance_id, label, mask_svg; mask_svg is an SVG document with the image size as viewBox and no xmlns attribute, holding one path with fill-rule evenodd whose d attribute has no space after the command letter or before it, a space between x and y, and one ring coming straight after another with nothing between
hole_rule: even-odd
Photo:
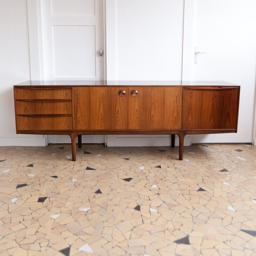
<instances>
[{"instance_id":1,"label":"knobless wooden door at the right end of the sideboard","mask_svg":"<svg viewBox=\"0 0 256 256\"><path fill-rule=\"evenodd\" d=\"M237 129L239 87L185 87L183 129Z\"/></svg>"}]
</instances>

